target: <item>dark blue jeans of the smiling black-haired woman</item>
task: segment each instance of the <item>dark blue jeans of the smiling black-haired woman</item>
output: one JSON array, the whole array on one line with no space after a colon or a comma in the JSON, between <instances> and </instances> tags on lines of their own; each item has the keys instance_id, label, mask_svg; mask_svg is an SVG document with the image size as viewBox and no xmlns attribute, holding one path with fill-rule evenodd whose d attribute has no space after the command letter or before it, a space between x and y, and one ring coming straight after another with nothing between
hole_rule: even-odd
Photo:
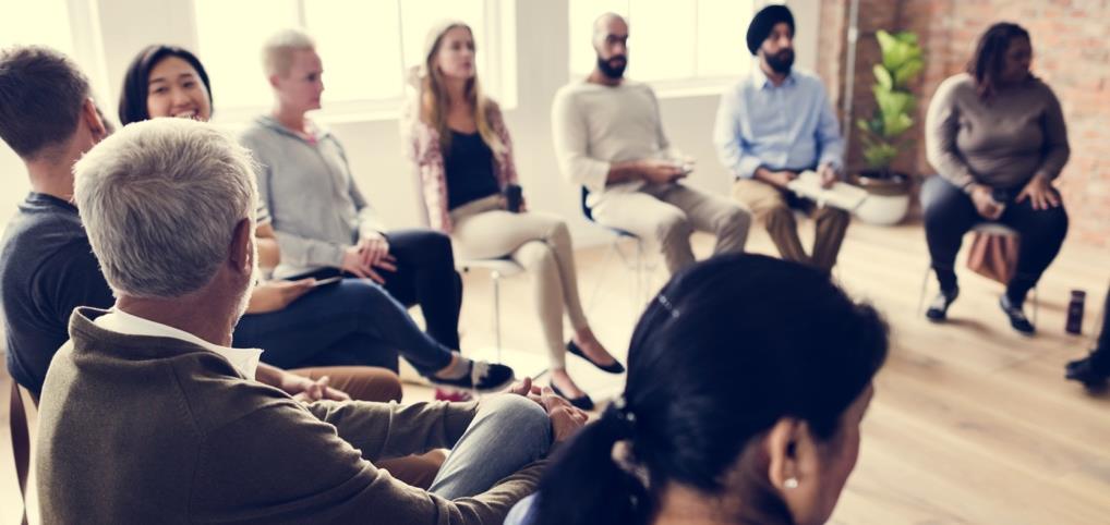
<instances>
[{"instance_id":1,"label":"dark blue jeans of the smiling black-haired woman","mask_svg":"<svg viewBox=\"0 0 1110 525\"><path fill-rule=\"evenodd\" d=\"M398 352L423 375L451 364L451 349L421 331L385 290L359 279L310 291L278 312L243 315L232 344L262 349L262 361L281 368L381 366L396 372Z\"/></svg>"}]
</instances>

